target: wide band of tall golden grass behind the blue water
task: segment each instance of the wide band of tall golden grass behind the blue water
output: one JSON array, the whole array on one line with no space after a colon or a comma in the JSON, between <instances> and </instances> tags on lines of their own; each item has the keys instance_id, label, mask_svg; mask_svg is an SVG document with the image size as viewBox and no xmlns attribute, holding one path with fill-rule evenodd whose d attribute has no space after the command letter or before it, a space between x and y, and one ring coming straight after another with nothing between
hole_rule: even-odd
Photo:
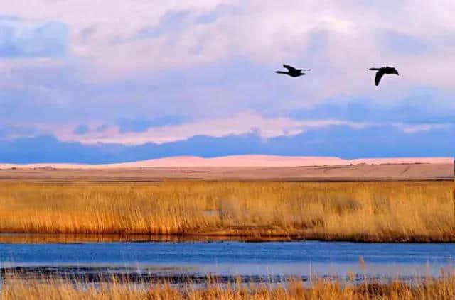
<instances>
[{"instance_id":1,"label":"wide band of tall golden grass behind the blue water","mask_svg":"<svg viewBox=\"0 0 455 300\"><path fill-rule=\"evenodd\" d=\"M455 241L453 182L0 183L0 232Z\"/></svg>"}]
</instances>

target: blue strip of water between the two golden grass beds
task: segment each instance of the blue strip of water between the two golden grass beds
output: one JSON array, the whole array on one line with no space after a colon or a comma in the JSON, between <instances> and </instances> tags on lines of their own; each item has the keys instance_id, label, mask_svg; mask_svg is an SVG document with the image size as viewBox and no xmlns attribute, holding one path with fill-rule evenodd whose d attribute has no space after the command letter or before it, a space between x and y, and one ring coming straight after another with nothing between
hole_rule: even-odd
<instances>
[{"instance_id":1,"label":"blue strip of water between the two golden grass beds","mask_svg":"<svg viewBox=\"0 0 455 300\"><path fill-rule=\"evenodd\" d=\"M365 270L359 263L365 260ZM207 274L245 278L438 276L455 257L451 243L341 243L183 241L109 243L3 243L0 268L58 274L148 274L203 278Z\"/></svg>"}]
</instances>

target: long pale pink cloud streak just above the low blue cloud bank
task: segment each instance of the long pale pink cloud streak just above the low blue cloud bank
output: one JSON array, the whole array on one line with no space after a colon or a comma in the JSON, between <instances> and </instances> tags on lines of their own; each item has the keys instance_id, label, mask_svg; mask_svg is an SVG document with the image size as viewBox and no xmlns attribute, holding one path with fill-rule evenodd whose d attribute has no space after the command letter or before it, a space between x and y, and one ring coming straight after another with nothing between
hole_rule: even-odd
<instances>
[{"instance_id":1,"label":"long pale pink cloud streak just above the low blue cloud bank","mask_svg":"<svg viewBox=\"0 0 455 300\"><path fill-rule=\"evenodd\" d=\"M51 133L59 140L84 144L116 143L124 145L143 145L146 143L170 143L187 140L196 135L223 137L257 133L261 138L274 138L282 135L297 135L309 128L328 126L363 127L366 123L340 121L336 119L298 121L287 117L264 118L252 113L238 113L231 118L213 118L204 121L183 122L179 118L156 120L156 126L150 121L128 123L129 127L109 126L102 132L84 131L84 135L68 130L70 127L56 128L52 124L43 124L41 132ZM165 123L163 123L166 121ZM161 125L159 125L161 124Z\"/></svg>"}]
</instances>

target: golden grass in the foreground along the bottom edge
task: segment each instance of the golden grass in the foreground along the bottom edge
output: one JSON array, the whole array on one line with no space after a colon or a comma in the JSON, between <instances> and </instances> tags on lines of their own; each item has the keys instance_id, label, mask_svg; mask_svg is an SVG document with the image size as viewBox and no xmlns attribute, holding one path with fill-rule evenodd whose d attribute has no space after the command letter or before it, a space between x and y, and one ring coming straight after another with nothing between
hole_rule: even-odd
<instances>
[{"instance_id":1,"label":"golden grass in the foreground along the bottom edge","mask_svg":"<svg viewBox=\"0 0 455 300\"><path fill-rule=\"evenodd\" d=\"M352 282L325 282L315 279L309 285L296 279L285 284L242 285L240 280L235 284L208 283L205 287L194 287L191 284L181 288L170 284L138 285L120 284L84 284L68 282L63 279L6 279L0 289L1 300L67 300L67 299L454 299L455 277L449 275L439 279L427 278L422 282L407 284L395 280L390 283L371 282L353 284Z\"/></svg>"}]
</instances>

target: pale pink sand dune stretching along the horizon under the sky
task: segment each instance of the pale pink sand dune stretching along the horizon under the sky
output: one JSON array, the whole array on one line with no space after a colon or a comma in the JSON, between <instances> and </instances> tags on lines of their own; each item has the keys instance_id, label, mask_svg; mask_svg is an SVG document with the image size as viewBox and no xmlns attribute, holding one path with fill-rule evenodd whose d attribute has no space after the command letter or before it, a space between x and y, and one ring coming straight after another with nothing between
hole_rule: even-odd
<instances>
[{"instance_id":1,"label":"pale pink sand dune stretching along the horizon under the sky","mask_svg":"<svg viewBox=\"0 0 455 300\"><path fill-rule=\"evenodd\" d=\"M1 169L44 168L55 169L112 169L139 167L305 167L305 166L343 166L343 165L384 165L384 164L450 164L452 157L400 157L400 158L360 158L343 160L339 157L306 157L306 156L275 156L275 155L233 155L225 157L203 158L196 156L166 157L139 162L119 164L87 165L87 164L0 164Z\"/></svg>"}]
</instances>

